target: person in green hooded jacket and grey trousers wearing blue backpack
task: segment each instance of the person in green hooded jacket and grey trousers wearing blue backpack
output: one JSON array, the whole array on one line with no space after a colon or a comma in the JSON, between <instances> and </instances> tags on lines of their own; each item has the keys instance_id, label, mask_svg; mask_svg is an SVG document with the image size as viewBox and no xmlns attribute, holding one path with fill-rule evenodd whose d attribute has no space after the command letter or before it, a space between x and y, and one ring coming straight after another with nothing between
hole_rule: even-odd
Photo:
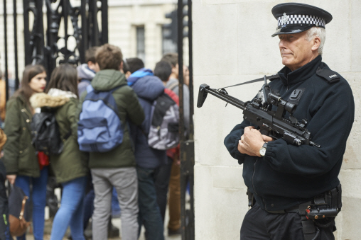
<instances>
[{"instance_id":1,"label":"person in green hooded jacket and grey trousers wearing blue backpack","mask_svg":"<svg viewBox=\"0 0 361 240\"><path fill-rule=\"evenodd\" d=\"M90 152L89 167L92 173L95 200L92 215L92 238L107 239L107 226L111 212L112 187L117 190L122 210L122 239L138 239L138 181L134 146L129 135L129 121L141 125L144 110L136 93L127 86L122 69L122 51L119 47L105 44L99 47L95 59L100 71L92 79L95 91L110 91L117 104L118 115L124 126L123 142L109 152ZM87 91L80 97L80 110Z\"/></svg>"}]
</instances>

